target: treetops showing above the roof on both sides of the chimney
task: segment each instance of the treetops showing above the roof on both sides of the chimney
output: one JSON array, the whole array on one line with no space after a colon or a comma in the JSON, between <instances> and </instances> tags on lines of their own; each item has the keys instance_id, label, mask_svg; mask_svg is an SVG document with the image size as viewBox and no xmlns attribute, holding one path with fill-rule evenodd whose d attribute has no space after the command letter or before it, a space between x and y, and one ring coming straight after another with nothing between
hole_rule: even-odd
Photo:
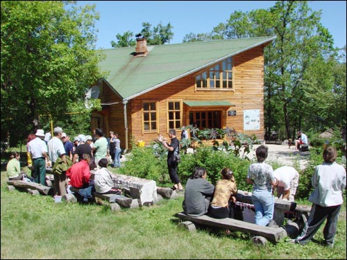
<instances>
[{"instance_id":1,"label":"treetops showing above the roof on both sides of the chimney","mask_svg":"<svg viewBox=\"0 0 347 260\"><path fill-rule=\"evenodd\" d=\"M172 37L174 37L174 33L172 33L171 29L174 28L171 24L167 24L167 26L163 26L162 23L158 24L158 26L154 26L151 28L151 24L148 22L142 23L142 31L141 34L146 38L148 45L160 45L170 42ZM126 31L123 35L117 34L117 42L111 41L111 45L113 48L116 47L128 47L134 46L136 44L135 40L132 40L133 32Z\"/></svg>"}]
</instances>

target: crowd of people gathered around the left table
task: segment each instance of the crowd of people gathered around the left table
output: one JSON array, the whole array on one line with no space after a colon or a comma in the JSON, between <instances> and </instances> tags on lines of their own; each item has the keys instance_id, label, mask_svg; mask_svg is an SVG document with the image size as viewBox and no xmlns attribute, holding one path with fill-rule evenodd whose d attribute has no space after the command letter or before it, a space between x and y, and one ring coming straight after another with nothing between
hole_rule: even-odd
<instances>
[{"instance_id":1,"label":"crowd of people gathered around the left table","mask_svg":"<svg viewBox=\"0 0 347 260\"><path fill-rule=\"evenodd\" d=\"M9 180L26 180L46 185L46 170L51 168L56 196L67 194L69 187L89 189L90 192L96 189L101 193L119 193L119 189L113 187L113 182L104 180L111 176L103 174L108 171L106 167L109 163L112 167L121 166L117 133L110 131L110 138L106 139L103 130L96 128L93 137L78 135L73 141L69 140L69 136L60 127L54 128L52 134L50 131L45 134L44 130L37 129L35 135L28 135L26 149L31 177L21 171L19 153L11 153L6 167ZM97 175L97 182L94 182L92 173Z\"/></svg>"}]
</instances>

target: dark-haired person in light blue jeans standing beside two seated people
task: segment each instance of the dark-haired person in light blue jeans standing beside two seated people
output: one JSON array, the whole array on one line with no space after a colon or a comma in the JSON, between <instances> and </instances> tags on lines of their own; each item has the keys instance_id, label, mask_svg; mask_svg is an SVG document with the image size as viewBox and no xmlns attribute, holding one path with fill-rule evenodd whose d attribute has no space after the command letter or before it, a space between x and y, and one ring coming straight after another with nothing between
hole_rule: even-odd
<instances>
[{"instance_id":1,"label":"dark-haired person in light blue jeans standing beside two seated people","mask_svg":"<svg viewBox=\"0 0 347 260\"><path fill-rule=\"evenodd\" d=\"M264 161L267 158L267 146L261 145L255 150L257 163L248 168L246 182L253 184L252 202L255 209L255 224L266 226L273 218L275 200L272 187L276 184L273 168Z\"/></svg>"}]
</instances>

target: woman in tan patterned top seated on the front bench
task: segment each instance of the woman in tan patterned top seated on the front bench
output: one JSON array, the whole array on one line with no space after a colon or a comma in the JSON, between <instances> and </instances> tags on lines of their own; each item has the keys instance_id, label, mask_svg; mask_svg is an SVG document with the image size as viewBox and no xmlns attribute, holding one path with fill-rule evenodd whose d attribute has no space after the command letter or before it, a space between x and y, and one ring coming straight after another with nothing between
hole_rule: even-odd
<instances>
[{"instance_id":1,"label":"woman in tan patterned top seated on the front bench","mask_svg":"<svg viewBox=\"0 0 347 260\"><path fill-rule=\"evenodd\" d=\"M209 209L212 218L234 218L234 207L232 206L236 202L236 194L234 173L230 168L223 168L221 180L217 181L214 188L213 200Z\"/></svg>"}]
</instances>

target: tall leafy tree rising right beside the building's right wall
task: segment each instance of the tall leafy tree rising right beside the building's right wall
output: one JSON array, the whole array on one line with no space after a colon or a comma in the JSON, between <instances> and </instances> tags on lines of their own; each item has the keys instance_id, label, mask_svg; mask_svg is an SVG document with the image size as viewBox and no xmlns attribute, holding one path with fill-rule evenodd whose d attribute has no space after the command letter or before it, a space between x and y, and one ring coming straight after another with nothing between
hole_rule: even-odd
<instances>
[{"instance_id":1,"label":"tall leafy tree rising right beside the building's right wall","mask_svg":"<svg viewBox=\"0 0 347 260\"><path fill-rule=\"evenodd\" d=\"M315 59L327 60L335 53L332 36L320 19L321 11L313 12L307 1L277 1L269 10L236 11L212 31L222 39L277 36L264 50L267 137L271 130L282 130L283 136L294 138L296 130L309 127L305 121L312 115L305 112L313 104L305 96L303 79L311 77Z\"/></svg>"}]
</instances>

